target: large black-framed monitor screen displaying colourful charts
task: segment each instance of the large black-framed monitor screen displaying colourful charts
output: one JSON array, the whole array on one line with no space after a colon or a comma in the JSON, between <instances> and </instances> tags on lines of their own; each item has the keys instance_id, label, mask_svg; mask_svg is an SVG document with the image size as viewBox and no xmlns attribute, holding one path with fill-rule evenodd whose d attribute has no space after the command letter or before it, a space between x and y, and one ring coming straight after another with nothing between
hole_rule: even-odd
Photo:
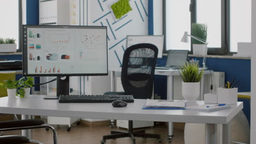
<instances>
[{"instance_id":1,"label":"large black-framed monitor screen displaying colourful charts","mask_svg":"<svg viewBox=\"0 0 256 144\"><path fill-rule=\"evenodd\" d=\"M107 27L22 27L23 74L108 75Z\"/></svg>"}]
</instances>

